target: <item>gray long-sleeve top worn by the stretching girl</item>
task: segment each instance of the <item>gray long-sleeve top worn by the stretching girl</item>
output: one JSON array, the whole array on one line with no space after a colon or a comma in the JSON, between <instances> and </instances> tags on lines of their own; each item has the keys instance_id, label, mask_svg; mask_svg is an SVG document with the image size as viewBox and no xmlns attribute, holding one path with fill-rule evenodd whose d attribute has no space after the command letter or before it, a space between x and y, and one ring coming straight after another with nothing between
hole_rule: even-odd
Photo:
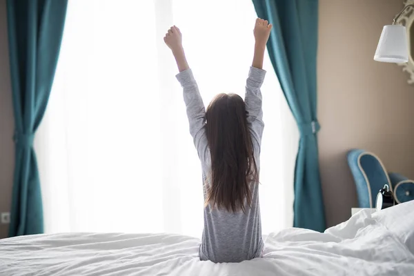
<instances>
[{"instance_id":1,"label":"gray long-sleeve top worn by the stretching girl","mask_svg":"<svg viewBox=\"0 0 414 276\"><path fill-rule=\"evenodd\" d=\"M250 67L244 98L257 170L260 166L259 153L264 129L260 88L265 75L265 70ZM210 172L210 151L205 130L206 110L191 69L180 72L177 79L184 90L190 134L193 136L201 161L206 198L206 178ZM209 259L215 263L242 262L262 255L264 244L260 221L259 185L251 185L252 205L246 208L245 213L242 210L232 213L218 208L211 209L209 205L204 208L204 230L199 249L201 260Z\"/></svg>"}]
</instances>

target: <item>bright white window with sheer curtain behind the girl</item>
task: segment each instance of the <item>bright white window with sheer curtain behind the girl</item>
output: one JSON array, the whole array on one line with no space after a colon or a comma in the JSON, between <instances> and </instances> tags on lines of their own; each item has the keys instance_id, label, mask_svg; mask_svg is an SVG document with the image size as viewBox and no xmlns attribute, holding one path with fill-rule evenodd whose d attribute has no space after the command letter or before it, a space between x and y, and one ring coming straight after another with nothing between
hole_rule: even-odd
<instances>
[{"instance_id":1,"label":"bright white window with sheer curtain behind the girl","mask_svg":"<svg viewBox=\"0 0 414 276\"><path fill-rule=\"evenodd\" d=\"M164 45L173 24L207 105L244 96L255 10L239 0L71 0L35 147L46 232L201 237L201 168ZM266 54L263 233L291 226L298 134Z\"/></svg>"}]
</instances>

